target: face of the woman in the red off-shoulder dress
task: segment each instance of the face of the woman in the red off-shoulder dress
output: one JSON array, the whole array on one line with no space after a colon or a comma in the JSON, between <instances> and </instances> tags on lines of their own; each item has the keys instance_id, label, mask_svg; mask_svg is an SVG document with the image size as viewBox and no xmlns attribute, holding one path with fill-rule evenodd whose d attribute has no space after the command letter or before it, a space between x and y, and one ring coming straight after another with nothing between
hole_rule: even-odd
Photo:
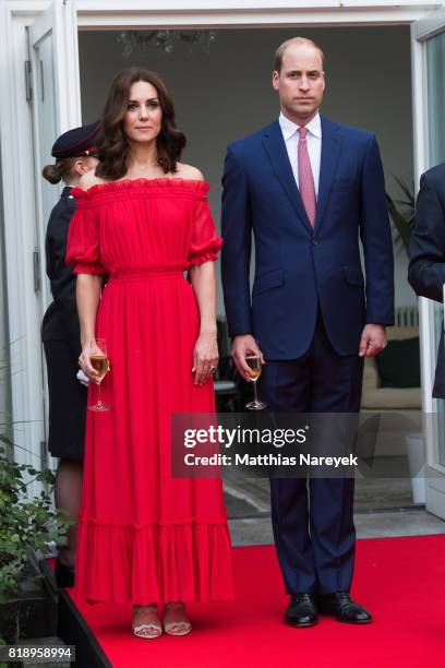
<instances>
[{"instance_id":1,"label":"face of the woman in the red off-shoulder dress","mask_svg":"<svg viewBox=\"0 0 445 668\"><path fill-rule=\"evenodd\" d=\"M147 81L132 84L123 117L123 131L130 142L152 142L160 132L163 110L158 92Z\"/></svg>"}]
</instances>

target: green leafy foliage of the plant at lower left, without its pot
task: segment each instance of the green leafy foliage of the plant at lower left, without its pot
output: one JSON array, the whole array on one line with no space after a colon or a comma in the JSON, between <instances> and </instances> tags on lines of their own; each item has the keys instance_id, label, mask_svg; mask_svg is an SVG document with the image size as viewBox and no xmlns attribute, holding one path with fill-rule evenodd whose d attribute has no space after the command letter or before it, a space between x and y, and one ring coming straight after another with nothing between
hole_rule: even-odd
<instances>
[{"instance_id":1,"label":"green leafy foliage of the plant at lower left, without its pot","mask_svg":"<svg viewBox=\"0 0 445 668\"><path fill-rule=\"evenodd\" d=\"M19 591L28 556L45 553L50 541L67 545L72 524L64 511L52 508L55 475L11 461L7 451L11 446L11 440L0 434L0 605ZM28 493L34 481L44 485L38 496Z\"/></svg>"}]
</instances>

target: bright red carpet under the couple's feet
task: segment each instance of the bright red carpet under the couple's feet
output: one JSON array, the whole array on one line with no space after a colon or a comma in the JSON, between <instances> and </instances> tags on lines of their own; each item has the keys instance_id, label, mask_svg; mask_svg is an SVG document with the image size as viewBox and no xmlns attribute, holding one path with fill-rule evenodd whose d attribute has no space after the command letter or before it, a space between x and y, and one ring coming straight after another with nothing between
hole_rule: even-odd
<instances>
[{"instance_id":1,"label":"bright red carpet under the couple's feet","mask_svg":"<svg viewBox=\"0 0 445 668\"><path fill-rule=\"evenodd\" d=\"M352 594L374 615L364 627L327 617L310 629L286 627L274 548L233 556L237 601L191 605L185 637L133 637L130 607L77 604L113 667L445 666L445 536L358 542Z\"/></svg>"}]
</instances>

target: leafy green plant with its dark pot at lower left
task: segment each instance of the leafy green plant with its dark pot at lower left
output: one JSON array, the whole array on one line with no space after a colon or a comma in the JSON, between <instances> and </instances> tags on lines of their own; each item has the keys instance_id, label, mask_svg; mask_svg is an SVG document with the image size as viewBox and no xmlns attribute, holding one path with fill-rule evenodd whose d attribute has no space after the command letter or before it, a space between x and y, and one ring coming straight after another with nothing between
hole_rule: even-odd
<instances>
[{"instance_id":1,"label":"leafy green plant with its dark pot at lower left","mask_svg":"<svg viewBox=\"0 0 445 668\"><path fill-rule=\"evenodd\" d=\"M17 464L9 456L12 446L0 433L0 641L8 643L53 634L45 633L50 601L38 559L48 552L49 542L67 544L71 524L52 508L52 472ZM35 481L43 486L38 496L28 493Z\"/></svg>"}]
</instances>

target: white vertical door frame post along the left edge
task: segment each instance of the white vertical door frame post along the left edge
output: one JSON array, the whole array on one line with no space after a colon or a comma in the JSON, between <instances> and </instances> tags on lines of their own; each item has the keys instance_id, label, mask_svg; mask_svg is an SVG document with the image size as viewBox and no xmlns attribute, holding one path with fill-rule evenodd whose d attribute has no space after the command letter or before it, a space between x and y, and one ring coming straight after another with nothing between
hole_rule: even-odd
<instances>
[{"instance_id":1,"label":"white vertical door frame post along the left edge","mask_svg":"<svg viewBox=\"0 0 445 668\"><path fill-rule=\"evenodd\" d=\"M36 8L41 11L43 8ZM41 368L34 293L35 194L31 110L25 96L25 28L36 14L0 5L0 138L13 437L20 462L40 464ZM34 336L32 336L34 333Z\"/></svg>"}]
</instances>

